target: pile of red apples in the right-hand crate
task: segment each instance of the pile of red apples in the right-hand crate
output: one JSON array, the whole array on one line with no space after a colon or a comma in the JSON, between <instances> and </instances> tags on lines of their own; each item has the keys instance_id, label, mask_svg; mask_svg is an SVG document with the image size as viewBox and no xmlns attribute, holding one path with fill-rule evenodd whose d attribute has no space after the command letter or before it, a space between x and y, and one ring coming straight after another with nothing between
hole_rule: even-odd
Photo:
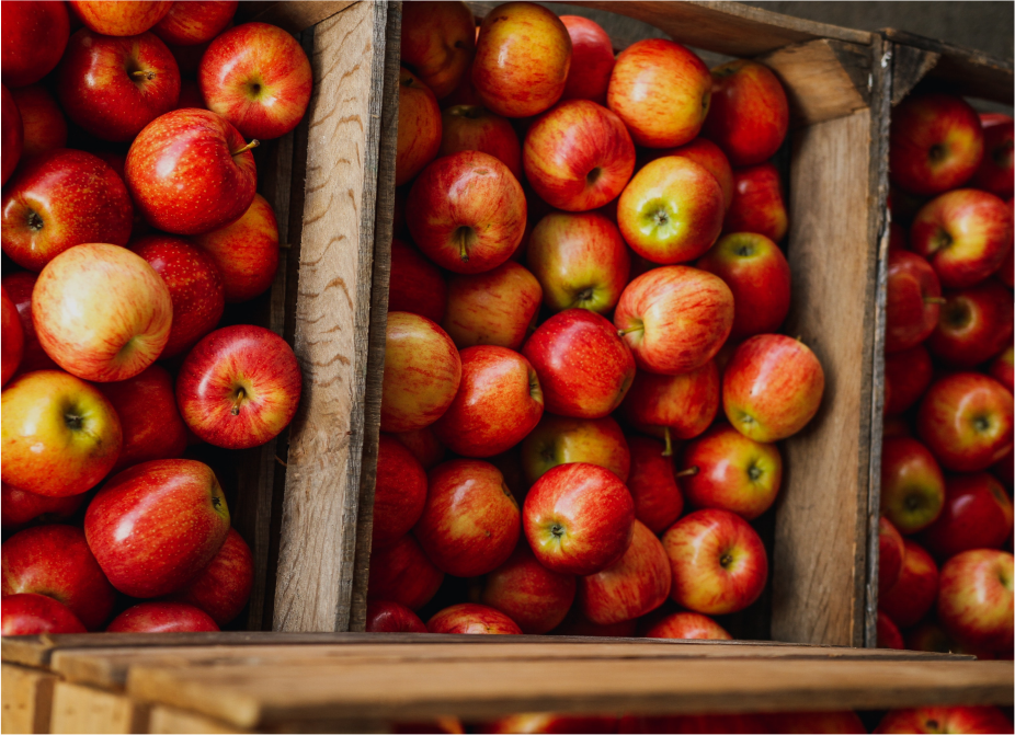
<instances>
[{"instance_id":1,"label":"pile of red apples in the right-hand crate","mask_svg":"<svg viewBox=\"0 0 1015 735\"><path fill-rule=\"evenodd\" d=\"M878 639L1011 657L1015 119L913 95L890 171Z\"/></svg>"}]
</instances>

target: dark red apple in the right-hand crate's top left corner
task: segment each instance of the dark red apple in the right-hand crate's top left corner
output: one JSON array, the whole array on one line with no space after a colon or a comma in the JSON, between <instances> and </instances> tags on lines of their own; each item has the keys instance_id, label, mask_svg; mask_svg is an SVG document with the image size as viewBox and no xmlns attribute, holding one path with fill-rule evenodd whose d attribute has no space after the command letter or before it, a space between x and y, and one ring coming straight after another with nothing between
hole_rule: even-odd
<instances>
[{"instance_id":1,"label":"dark red apple in the right-hand crate's top left corner","mask_svg":"<svg viewBox=\"0 0 1015 735\"><path fill-rule=\"evenodd\" d=\"M983 158L983 128L968 102L913 94L892 110L889 171L893 184L922 196L965 184Z\"/></svg>"}]
</instances>

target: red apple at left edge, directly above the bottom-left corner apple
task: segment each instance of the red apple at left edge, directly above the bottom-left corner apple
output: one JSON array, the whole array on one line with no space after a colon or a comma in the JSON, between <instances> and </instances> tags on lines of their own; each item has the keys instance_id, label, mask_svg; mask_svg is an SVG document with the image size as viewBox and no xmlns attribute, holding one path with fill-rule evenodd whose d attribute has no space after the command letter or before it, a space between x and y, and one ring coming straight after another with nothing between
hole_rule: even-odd
<instances>
[{"instance_id":1,"label":"red apple at left edge, directly above the bottom-left corner apple","mask_svg":"<svg viewBox=\"0 0 1015 735\"><path fill-rule=\"evenodd\" d=\"M0 544L0 597L47 595L99 630L113 611L115 592L73 526L36 526Z\"/></svg>"}]
</instances>

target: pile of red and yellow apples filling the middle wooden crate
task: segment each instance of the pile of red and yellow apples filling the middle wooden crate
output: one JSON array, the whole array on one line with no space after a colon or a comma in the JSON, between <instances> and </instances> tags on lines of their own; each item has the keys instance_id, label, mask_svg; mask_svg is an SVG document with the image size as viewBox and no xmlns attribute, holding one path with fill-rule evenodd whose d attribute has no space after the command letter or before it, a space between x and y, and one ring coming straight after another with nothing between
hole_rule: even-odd
<instances>
[{"instance_id":1,"label":"pile of red and yellow apples filling the middle wooden crate","mask_svg":"<svg viewBox=\"0 0 1015 735\"><path fill-rule=\"evenodd\" d=\"M367 630L729 638L824 389L777 334L779 81L529 2L403 13ZM424 627L445 575L475 594Z\"/></svg>"}]
</instances>

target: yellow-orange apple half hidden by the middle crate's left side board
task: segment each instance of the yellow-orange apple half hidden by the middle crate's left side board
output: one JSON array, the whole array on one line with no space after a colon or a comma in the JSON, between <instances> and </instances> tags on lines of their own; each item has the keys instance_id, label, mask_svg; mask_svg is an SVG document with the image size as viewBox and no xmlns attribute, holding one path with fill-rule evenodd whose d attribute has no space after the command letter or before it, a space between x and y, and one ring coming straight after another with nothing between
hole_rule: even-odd
<instances>
[{"instance_id":1,"label":"yellow-orange apple half hidden by the middle crate's left side board","mask_svg":"<svg viewBox=\"0 0 1015 735\"><path fill-rule=\"evenodd\" d=\"M419 314L388 313L380 430L430 426L447 411L460 382L461 359L444 330Z\"/></svg>"}]
</instances>

